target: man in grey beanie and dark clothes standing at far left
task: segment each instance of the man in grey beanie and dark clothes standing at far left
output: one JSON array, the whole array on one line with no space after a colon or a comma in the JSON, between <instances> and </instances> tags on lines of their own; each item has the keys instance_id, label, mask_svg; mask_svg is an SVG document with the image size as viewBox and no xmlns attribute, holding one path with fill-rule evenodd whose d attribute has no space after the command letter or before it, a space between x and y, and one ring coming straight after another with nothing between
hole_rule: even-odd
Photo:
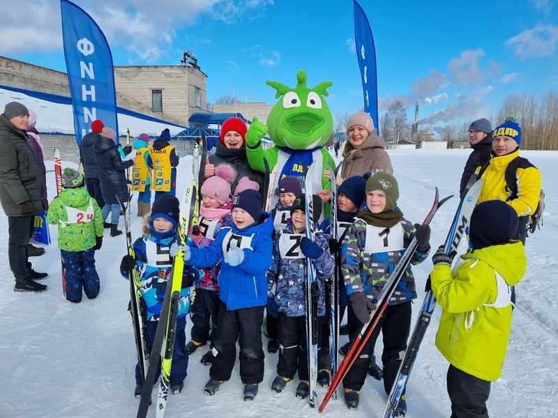
<instances>
[{"instance_id":1,"label":"man in grey beanie and dark clothes standing at far left","mask_svg":"<svg viewBox=\"0 0 558 418\"><path fill-rule=\"evenodd\" d=\"M34 215L45 207L37 160L25 129L29 110L19 102L6 104L0 115L0 203L8 217L8 260L15 277L14 291L43 292L44 279L28 261L27 245L33 232Z\"/></svg>"}]
</instances>

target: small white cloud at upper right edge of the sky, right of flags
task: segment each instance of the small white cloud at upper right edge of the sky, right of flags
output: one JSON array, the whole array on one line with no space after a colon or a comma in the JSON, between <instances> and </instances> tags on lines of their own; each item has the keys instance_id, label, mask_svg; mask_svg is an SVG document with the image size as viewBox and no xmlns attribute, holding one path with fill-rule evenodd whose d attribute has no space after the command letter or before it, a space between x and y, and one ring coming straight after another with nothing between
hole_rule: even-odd
<instances>
[{"instance_id":1,"label":"small white cloud at upper right edge of the sky, right of flags","mask_svg":"<svg viewBox=\"0 0 558 418\"><path fill-rule=\"evenodd\" d=\"M550 56L555 53L558 44L558 26L541 25L522 31L518 36L506 40L506 46L521 59Z\"/></svg>"}]
</instances>

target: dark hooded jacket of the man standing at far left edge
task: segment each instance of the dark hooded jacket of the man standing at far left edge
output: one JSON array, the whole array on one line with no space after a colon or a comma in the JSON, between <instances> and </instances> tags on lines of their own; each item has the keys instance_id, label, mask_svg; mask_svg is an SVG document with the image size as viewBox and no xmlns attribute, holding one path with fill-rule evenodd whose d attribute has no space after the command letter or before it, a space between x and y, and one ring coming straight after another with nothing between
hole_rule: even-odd
<instances>
[{"instance_id":1,"label":"dark hooded jacket of the man standing at far left edge","mask_svg":"<svg viewBox=\"0 0 558 418\"><path fill-rule=\"evenodd\" d=\"M27 134L0 114L0 202L4 213L22 217L43 212L42 194L39 166ZM22 213L19 205L27 201L33 211Z\"/></svg>"}]
</instances>

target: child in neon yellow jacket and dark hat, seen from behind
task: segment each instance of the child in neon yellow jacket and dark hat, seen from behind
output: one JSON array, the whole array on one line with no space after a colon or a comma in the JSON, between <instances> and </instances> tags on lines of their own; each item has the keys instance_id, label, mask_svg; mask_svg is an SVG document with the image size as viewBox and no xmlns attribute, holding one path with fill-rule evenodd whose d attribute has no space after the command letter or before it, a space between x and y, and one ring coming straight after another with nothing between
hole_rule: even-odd
<instances>
[{"instance_id":1,"label":"child in neon yellow jacket and dark hat, seen from behind","mask_svg":"<svg viewBox=\"0 0 558 418\"><path fill-rule=\"evenodd\" d=\"M440 247L432 256L430 285L443 309L436 346L450 363L452 418L488 418L490 381L502 375L511 330L511 286L521 281L527 265L522 243L511 240L517 226L510 205L485 201L473 211L472 249L455 272L455 254Z\"/></svg>"}]
</instances>

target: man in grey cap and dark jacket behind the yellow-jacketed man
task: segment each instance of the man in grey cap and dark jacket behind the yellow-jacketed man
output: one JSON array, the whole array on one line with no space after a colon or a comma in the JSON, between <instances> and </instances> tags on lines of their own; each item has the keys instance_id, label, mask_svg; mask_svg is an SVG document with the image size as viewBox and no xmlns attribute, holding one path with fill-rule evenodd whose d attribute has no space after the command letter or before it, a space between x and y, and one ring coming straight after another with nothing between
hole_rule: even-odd
<instances>
[{"instance_id":1,"label":"man in grey cap and dark jacket behind the yellow-jacketed man","mask_svg":"<svg viewBox=\"0 0 558 418\"><path fill-rule=\"evenodd\" d=\"M469 178L471 178L477 167L482 167L490 160L490 152L492 151L492 123L488 119L482 118L474 121L469 125L468 133L469 144L471 144L473 152L469 155L461 176L460 198L466 194L465 187L469 182Z\"/></svg>"}]
</instances>

